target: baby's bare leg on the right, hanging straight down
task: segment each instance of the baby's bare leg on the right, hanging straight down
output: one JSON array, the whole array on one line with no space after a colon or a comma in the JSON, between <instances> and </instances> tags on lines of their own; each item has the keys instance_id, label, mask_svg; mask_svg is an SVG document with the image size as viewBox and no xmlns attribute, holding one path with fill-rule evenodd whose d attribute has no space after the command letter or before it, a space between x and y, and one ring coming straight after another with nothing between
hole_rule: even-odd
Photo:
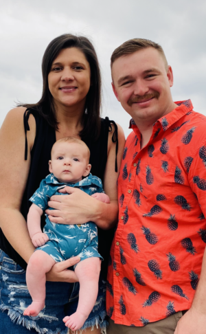
<instances>
[{"instance_id":1,"label":"baby's bare leg on the right, hanging straight down","mask_svg":"<svg viewBox=\"0 0 206 334\"><path fill-rule=\"evenodd\" d=\"M100 258L87 258L76 266L75 272L80 282L78 308L75 313L63 319L72 331L77 331L83 326L93 309L98 296L100 265Z\"/></svg>"}]
</instances>

